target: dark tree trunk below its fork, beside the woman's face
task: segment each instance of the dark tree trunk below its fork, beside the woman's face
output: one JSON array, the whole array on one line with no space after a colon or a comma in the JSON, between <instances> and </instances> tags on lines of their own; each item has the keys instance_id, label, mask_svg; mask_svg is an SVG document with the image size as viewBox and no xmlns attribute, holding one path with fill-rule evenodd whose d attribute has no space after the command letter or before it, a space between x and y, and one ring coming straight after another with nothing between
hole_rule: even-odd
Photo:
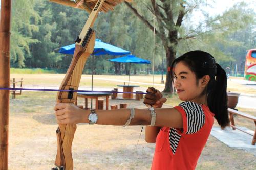
<instances>
[{"instance_id":1,"label":"dark tree trunk below its fork, beside the woman's face","mask_svg":"<svg viewBox=\"0 0 256 170\"><path fill-rule=\"evenodd\" d=\"M170 65L172 65L172 62L176 58L176 48L175 47L165 47L166 52L166 80L165 80L165 88L163 90L164 93L170 93L172 94L174 92L173 89L173 82L170 78Z\"/></svg>"}]
</instances>

